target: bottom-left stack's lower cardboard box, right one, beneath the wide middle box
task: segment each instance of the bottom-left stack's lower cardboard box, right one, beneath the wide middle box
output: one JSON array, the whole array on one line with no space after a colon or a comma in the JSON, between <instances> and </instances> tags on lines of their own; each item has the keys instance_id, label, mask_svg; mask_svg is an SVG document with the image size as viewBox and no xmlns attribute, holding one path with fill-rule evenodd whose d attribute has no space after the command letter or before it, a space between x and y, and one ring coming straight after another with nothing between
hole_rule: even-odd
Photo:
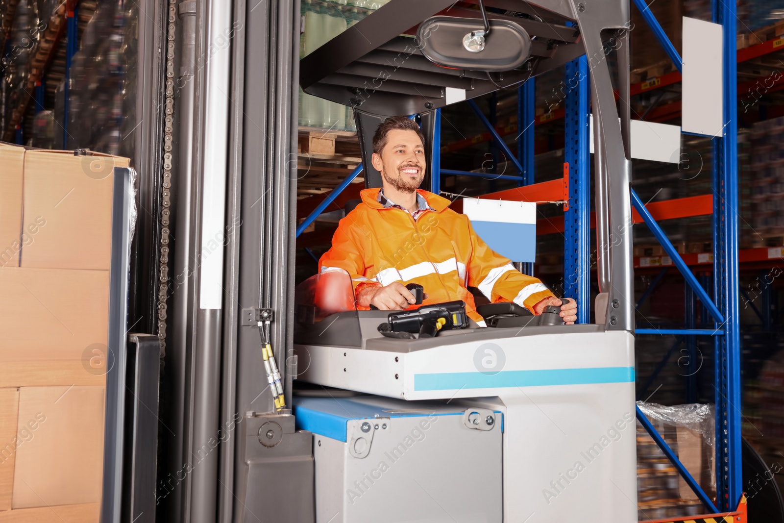
<instances>
[{"instance_id":1,"label":"bottom-left stack's lower cardboard box, right one, beneath the wide middle box","mask_svg":"<svg viewBox=\"0 0 784 523\"><path fill-rule=\"evenodd\" d=\"M20 388L12 508L100 502L103 405L103 387Z\"/></svg>"}]
</instances>

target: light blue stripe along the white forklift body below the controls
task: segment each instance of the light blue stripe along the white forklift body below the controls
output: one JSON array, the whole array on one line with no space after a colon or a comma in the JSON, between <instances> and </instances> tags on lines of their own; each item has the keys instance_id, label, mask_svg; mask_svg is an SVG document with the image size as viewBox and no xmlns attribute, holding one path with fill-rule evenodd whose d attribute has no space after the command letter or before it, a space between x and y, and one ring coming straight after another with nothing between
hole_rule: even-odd
<instances>
[{"instance_id":1,"label":"light blue stripe along the white forklift body below the controls","mask_svg":"<svg viewBox=\"0 0 784 523\"><path fill-rule=\"evenodd\" d=\"M593 383L629 383L633 381L634 367L503 370L495 373L437 372L432 374L415 374L414 390L541 387L543 385L589 385Z\"/></svg>"}]
</instances>

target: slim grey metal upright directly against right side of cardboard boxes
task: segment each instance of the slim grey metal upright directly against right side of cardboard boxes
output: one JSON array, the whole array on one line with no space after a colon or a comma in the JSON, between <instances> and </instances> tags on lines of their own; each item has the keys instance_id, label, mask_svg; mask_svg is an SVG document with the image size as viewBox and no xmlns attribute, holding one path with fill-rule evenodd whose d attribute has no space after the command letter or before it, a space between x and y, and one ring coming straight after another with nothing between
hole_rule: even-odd
<instances>
[{"instance_id":1,"label":"slim grey metal upright directly against right side of cardboard boxes","mask_svg":"<svg viewBox=\"0 0 784 523\"><path fill-rule=\"evenodd\" d=\"M128 321L129 234L133 188L130 169L114 168L109 271L106 417L103 432L103 496L100 521L120 521L125 426L125 332Z\"/></svg>"}]
</instances>

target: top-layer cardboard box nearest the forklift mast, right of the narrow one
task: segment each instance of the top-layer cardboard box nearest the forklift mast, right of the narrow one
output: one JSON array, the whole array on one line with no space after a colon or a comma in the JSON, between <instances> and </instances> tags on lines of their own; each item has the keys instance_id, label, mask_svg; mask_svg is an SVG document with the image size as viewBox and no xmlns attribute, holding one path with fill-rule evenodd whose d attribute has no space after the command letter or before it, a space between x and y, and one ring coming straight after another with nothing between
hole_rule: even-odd
<instances>
[{"instance_id":1,"label":"top-layer cardboard box nearest the forklift mast, right of the narrow one","mask_svg":"<svg viewBox=\"0 0 784 523\"><path fill-rule=\"evenodd\" d=\"M128 158L27 151L21 267L108 270L114 167Z\"/></svg>"}]
</instances>

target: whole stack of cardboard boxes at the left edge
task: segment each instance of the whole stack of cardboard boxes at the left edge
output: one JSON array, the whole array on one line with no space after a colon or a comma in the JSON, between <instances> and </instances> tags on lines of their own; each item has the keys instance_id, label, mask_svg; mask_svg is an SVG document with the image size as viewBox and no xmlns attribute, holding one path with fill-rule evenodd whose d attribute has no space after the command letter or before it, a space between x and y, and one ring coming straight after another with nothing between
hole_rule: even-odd
<instances>
[{"instance_id":1,"label":"whole stack of cardboard boxes at the left edge","mask_svg":"<svg viewBox=\"0 0 784 523\"><path fill-rule=\"evenodd\" d=\"M113 170L128 163L0 143L0 523L98 521Z\"/></svg>"}]
</instances>

